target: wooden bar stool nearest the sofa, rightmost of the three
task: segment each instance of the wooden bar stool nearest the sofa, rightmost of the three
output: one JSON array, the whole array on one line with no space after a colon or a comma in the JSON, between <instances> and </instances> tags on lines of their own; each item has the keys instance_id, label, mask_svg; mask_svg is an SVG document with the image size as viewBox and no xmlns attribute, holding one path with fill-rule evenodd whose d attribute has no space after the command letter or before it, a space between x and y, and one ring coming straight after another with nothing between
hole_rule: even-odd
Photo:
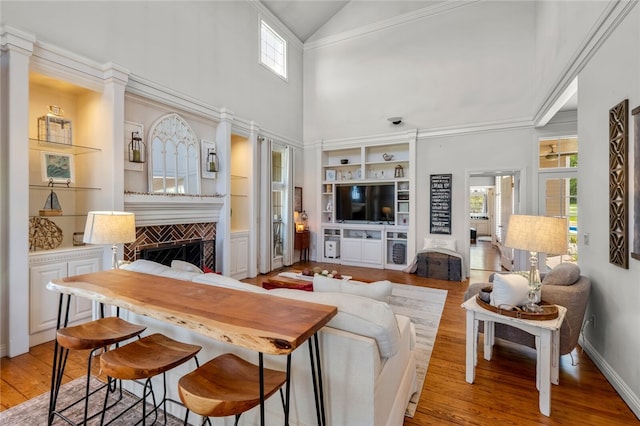
<instances>
[{"instance_id":1,"label":"wooden bar stool nearest the sofa, rightmost of the three","mask_svg":"<svg viewBox=\"0 0 640 426\"><path fill-rule=\"evenodd\" d=\"M287 356L286 372L265 369L262 358L260 353L260 365L257 366L234 354L223 354L182 376L178 393L187 407L184 424L187 424L189 411L193 411L205 417L235 415L237 425L242 413L259 404L263 407L264 400L277 390L282 396L282 385L289 381L291 355ZM289 415L288 396L287 386L287 402L282 397L285 424L288 424ZM260 415L264 423L263 410Z\"/></svg>"}]
</instances>

